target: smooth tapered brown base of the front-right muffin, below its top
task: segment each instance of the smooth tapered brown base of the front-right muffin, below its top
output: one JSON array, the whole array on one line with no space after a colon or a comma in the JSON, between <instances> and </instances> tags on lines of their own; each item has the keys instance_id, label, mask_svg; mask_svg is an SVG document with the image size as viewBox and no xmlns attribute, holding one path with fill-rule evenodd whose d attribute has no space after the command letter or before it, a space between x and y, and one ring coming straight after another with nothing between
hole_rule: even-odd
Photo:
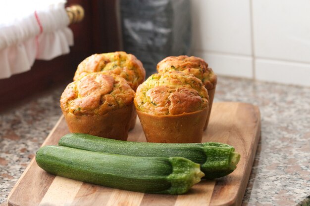
<instances>
[{"instance_id":1,"label":"smooth tapered brown base of the front-right muffin, below its top","mask_svg":"<svg viewBox=\"0 0 310 206\"><path fill-rule=\"evenodd\" d=\"M148 142L201 143L208 108L181 115L155 116L137 111Z\"/></svg>"}]
</instances>

